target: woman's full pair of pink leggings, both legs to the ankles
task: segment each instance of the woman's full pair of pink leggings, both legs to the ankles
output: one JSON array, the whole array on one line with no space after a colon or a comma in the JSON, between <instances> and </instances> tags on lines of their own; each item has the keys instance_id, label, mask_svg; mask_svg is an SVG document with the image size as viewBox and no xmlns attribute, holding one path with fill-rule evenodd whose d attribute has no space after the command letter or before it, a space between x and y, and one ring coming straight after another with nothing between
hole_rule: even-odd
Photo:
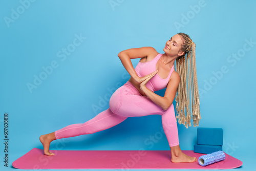
<instances>
[{"instance_id":1,"label":"woman's full pair of pink leggings, both legs to the ankles","mask_svg":"<svg viewBox=\"0 0 256 171\"><path fill-rule=\"evenodd\" d=\"M84 123L71 124L55 131L56 139L93 134L109 129L127 117L161 115L163 130L169 146L179 145L174 105L164 111L150 98L142 96L133 84L127 81L110 98L110 108Z\"/></svg>"}]
</instances>

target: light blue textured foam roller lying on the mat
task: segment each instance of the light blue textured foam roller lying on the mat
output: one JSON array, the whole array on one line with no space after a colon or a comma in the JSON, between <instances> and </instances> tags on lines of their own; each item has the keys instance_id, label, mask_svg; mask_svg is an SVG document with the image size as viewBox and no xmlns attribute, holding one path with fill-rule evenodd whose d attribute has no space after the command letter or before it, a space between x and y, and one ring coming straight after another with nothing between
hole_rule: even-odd
<instances>
[{"instance_id":1,"label":"light blue textured foam roller lying on the mat","mask_svg":"<svg viewBox=\"0 0 256 171\"><path fill-rule=\"evenodd\" d=\"M225 157L226 157L226 155L223 151L218 151L218 152L200 156L198 158L198 162L201 166L207 166L209 164L222 161L225 159Z\"/></svg>"}]
</instances>

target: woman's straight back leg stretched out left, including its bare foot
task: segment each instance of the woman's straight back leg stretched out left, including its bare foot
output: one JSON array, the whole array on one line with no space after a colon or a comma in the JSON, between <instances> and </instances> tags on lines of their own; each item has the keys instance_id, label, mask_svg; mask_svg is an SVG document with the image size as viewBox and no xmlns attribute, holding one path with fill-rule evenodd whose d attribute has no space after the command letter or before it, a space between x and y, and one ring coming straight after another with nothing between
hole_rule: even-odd
<instances>
[{"instance_id":1,"label":"woman's straight back leg stretched out left, including its bare foot","mask_svg":"<svg viewBox=\"0 0 256 171\"><path fill-rule=\"evenodd\" d=\"M44 146L45 155L52 156L54 154L49 152L49 147L53 140L75 137L84 134L93 134L102 130L109 129L110 127L121 123L126 118L127 117L116 115L111 112L110 109L107 109L96 115L91 120L88 120L87 122L68 125L53 133L41 135L39 139Z\"/></svg>"}]
</instances>

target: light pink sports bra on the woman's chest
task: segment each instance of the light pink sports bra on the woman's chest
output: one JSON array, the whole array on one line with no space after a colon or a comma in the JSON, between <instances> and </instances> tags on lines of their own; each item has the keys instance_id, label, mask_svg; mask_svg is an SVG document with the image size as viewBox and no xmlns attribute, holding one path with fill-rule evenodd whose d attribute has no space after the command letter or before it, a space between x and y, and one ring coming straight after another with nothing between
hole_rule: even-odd
<instances>
[{"instance_id":1,"label":"light pink sports bra on the woman's chest","mask_svg":"<svg viewBox=\"0 0 256 171\"><path fill-rule=\"evenodd\" d=\"M147 74L150 74L150 73L156 71L156 64L157 64L157 61L160 59L161 56L162 56L162 54L159 53L151 61L139 62L137 64L137 66L135 67L135 71L138 74L138 76L143 77ZM170 69L169 75L165 79L161 78L157 73L154 77L152 77L146 83L146 88L150 89L153 92L166 88L167 83L168 83L169 78L170 78L170 75L172 75L173 71L174 71L174 66L172 67L172 69Z\"/></svg>"}]
</instances>

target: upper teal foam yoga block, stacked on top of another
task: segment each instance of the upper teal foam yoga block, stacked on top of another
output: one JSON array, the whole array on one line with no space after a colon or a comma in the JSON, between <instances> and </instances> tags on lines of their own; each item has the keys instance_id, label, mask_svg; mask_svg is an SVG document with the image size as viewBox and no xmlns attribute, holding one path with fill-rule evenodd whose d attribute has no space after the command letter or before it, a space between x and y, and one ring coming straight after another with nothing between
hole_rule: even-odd
<instances>
[{"instance_id":1,"label":"upper teal foam yoga block, stacked on top of another","mask_svg":"<svg viewBox=\"0 0 256 171\"><path fill-rule=\"evenodd\" d=\"M223 130L221 128L198 127L198 145L223 145Z\"/></svg>"}]
</instances>

